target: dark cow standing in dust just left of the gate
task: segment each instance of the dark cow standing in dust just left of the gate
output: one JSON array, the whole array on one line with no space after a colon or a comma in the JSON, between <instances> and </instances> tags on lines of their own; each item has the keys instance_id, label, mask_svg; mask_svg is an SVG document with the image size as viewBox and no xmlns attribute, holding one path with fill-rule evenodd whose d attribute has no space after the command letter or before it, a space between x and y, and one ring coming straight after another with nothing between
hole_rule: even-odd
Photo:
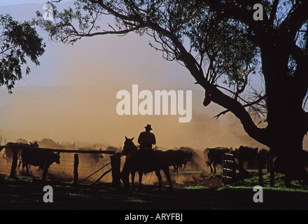
<instances>
[{"instance_id":1,"label":"dark cow standing in dust just left of the gate","mask_svg":"<svg viewBox=\"0 0 308 224\"><path fill-rule=\"evenodd\" d=\"M211 168L211 173L213 173L213 169L211 167L211 164L213 164L214 167L214 174L216 174L216 165L221 165L223 163L223 154L229 153L230 149L223 148L223 147L217 147L217 148L206 148L204 150L204 157L205 154L207 154L208 161L206 162L207 165Z\"/></svg>"}]
</instances>

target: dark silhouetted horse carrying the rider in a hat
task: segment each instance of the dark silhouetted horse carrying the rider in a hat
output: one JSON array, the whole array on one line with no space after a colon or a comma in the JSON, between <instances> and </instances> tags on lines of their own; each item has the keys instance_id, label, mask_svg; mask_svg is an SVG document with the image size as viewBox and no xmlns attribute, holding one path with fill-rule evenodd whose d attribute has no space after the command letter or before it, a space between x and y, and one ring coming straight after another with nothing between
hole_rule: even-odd
<instances>
[{"instance_id":1,"label":"dark silhouetted horse carrying the rider in a hat","mask_svg":"<svg viewBox=\"0 0 308 224\"><path fill-rule=\"evenodd\" d=\"M165 156L165 152L160 150L140 151L132 141L134 138L129 139L125 136L125 143L122 155L126 155L125 165L121 172L121 179L124 186L129 186L129 175L132 174L132 188L134 189L134 175L139 172L139 190L141 190L142 175L155 171L158 176L159 190L162 189L162 176L160 169L165 173L169 182L170 190L172 190L172 181L169 174L169 164Z\"/></svg>"}]
</instances>

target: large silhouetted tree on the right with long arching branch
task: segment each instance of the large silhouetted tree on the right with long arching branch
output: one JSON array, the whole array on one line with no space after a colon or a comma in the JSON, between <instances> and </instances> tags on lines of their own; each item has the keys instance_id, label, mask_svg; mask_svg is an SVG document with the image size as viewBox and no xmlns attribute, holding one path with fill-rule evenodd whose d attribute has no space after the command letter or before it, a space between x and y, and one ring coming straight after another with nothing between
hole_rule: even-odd
<instances>
[{"instance_id":1,"label":"large silhouetted tree on the right with long arching branch","mask_svg":"<svg viewBox=\"0 0 308 224\"><path fill-rule=\"evenodd\" d=\"M262 4L262 20L253 18L256 3ZM307 179L308 1L75 0L74 6L59 12L53 5L55 20L37 13L36 24L63 43L131 31L150 35L153 48L186 66L204 88L204 106L223 106L217 117L231 111L249 136L278 155L287 184ZM103 15L116 20L108 30L100 27ZM253 73L264 79L264 90L249 83ZM267 126L258 127L251 113L264 115Z\"/></svg>"}]
</instances>

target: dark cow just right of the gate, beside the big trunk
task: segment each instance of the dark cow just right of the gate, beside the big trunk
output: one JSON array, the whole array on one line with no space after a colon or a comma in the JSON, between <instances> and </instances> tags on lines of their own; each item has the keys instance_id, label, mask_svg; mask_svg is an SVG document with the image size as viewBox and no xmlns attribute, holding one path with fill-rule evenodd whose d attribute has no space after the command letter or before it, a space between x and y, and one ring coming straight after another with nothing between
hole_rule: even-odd
<instances>
[{"instance_id":1,"label":"dark cow just right of the gate, beside the big trunk","mask_svg":"<svg viewBox=\"0 0 308 224\"><path fill-rule=\"evenodd\" d=\"M266 165L266 152L265 149L258 150L258 148L239 146L239 148L235 149L236 157L239 160L239 170L244 168L244 162L247 162L248 169L255 169L258 165L263 168Z\"/></svg>"}]
</instances>

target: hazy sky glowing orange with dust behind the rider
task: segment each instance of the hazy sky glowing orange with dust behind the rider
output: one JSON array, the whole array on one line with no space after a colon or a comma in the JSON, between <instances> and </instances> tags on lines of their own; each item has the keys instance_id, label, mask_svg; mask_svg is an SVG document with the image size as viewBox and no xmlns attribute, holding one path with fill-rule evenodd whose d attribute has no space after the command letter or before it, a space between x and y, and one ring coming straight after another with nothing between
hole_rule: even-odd
<instances>
[{"instance_id":1,"label":"hazy sky glowing orange with dust behind the rider","mask_svg":"<svg viewBox=\"0 0 308 224\"><path fill-rule=\"evenodd\" d=\"M4 6L3 1L0 13L29 20L36 10L43 11L44 3L31 2ZM29 64L30 75L18 81L13 94L0 88L0 134L8 141L50 138L119 147L125 135L137 140L144 126L151 124L159 147L258 146L231 114L213 118L221 107L210 104L204 108L202 88L183 66L167 62L151 48L147 36L97 36L68 46L38 32L47 44L41 66ZM133 84L153 92L193 90L193 119L179 123L179 115L118 116L116 93L131 92Z\"/></svg>"}]
</instances>

